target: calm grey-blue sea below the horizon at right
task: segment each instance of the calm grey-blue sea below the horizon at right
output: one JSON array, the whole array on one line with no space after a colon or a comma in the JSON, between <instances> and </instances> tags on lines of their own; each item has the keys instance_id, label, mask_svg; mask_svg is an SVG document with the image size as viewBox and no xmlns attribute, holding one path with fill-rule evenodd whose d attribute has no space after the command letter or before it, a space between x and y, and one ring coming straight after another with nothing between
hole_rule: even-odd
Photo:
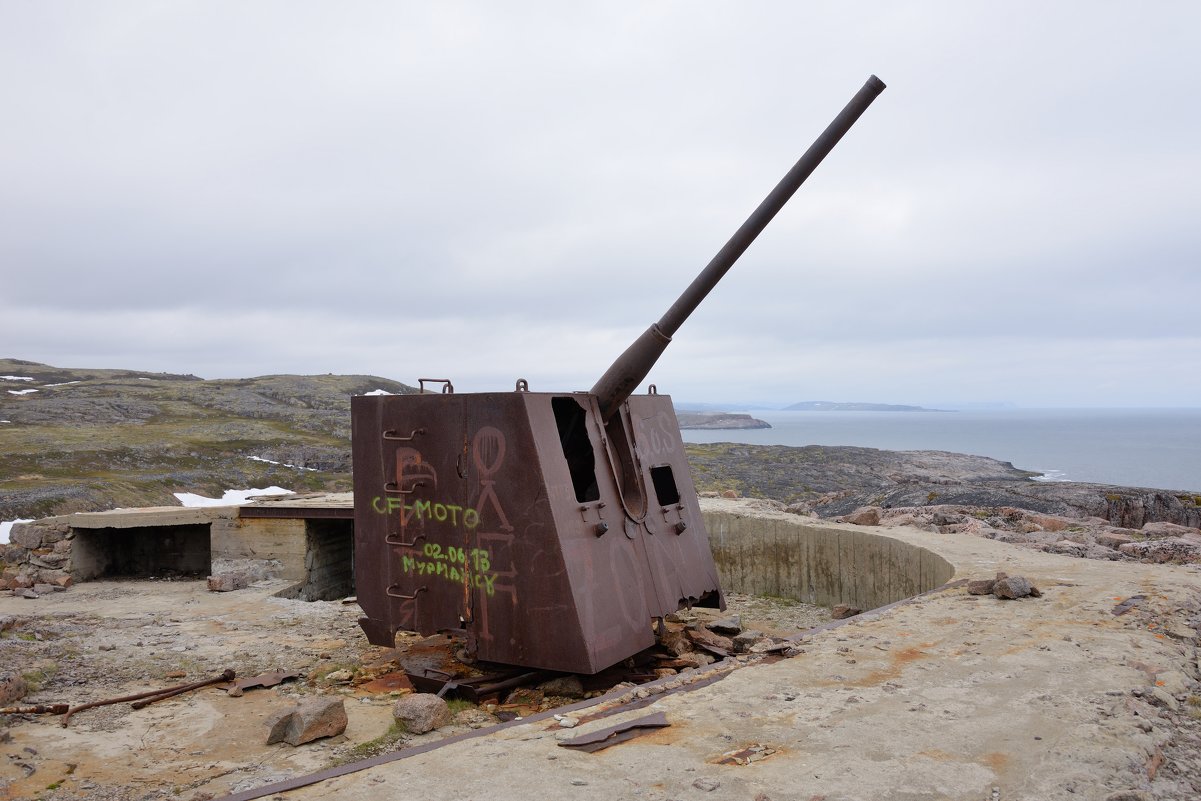
<instances>
[{"instance_id":1,"label":"calm grey-blue sea below the horizon at right","mask_svg":"<svg viewBox=\"0 0 1201 801\"><path fill-rule=\"evenodd\" d=\"M685 431L685 442L950 450L1012 462L1044 480L1201 491L1201 408L751 414L772 428Z\"/></svg>"}]
</instances>

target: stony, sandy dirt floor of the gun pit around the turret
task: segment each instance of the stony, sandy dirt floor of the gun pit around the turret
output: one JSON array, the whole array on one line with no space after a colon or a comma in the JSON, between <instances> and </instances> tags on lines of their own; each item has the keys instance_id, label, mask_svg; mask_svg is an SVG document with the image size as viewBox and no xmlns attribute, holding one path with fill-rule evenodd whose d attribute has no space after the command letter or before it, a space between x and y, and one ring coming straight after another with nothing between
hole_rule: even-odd
<instances>
[{"instance_id":1,"label":"stony, sandy dirt floor of the gun pit around the turret","mask_svg":"<svg viewBox=\"0 0 1201 801\"><path fill-rule=\"evenodd\" d=\"M142 710L84 710L68 728L61 716L7 716L0 799L199 801L496 722L456 703L455 725L419 736L389 733L398 692L371 692L337 676L351 671L362 681L395 671L395 652L366 642L357 604L275 597L283 586L214 593L196 580L96 581L38 599L0 598L0 669L23 675L34 691L22 705L78 705L201 681L227 668L239 677L300 674L238 698L209 687ZM737 594L729 598L729 615L776 635L829 620L821 608ZM274 713L318 693L345 697L345 734L301 747L264 745Z\"/></svg>"}]
</instances>

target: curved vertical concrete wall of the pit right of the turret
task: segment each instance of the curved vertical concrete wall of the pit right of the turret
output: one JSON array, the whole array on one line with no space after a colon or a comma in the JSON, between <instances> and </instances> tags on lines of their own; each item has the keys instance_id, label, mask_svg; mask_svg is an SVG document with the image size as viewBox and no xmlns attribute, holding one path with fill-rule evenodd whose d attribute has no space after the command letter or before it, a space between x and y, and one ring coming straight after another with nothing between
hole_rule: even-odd
<instances>
[{"instance_id":1,"label":"curved vertical concrete wall of the pit right of the turret","mask_svg":"<svg viewBox=\"0 0 1201 801\"><path fill-rule=\"evenodd\" d=\"M938 554L884 534L781 516L704 513L713 561L728 592L862 610L946 584L955 568Z\"/></svg>"}]
</instances>

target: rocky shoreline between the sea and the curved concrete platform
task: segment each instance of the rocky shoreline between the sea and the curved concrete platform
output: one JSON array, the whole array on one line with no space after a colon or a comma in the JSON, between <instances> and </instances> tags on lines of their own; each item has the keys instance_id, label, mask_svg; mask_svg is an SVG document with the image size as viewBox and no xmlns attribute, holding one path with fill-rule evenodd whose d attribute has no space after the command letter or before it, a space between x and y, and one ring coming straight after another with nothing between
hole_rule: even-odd
<instances>
[{"instance_id":1,"label":"rocky shoreline between the sea and the curved concrete platform","mask_svg":"<svg viewBox=\"0 0 1201 801\"><path fill-rule=\"evenodd\" d=\"M936 450L689 446L704 495L811 518L967 533L1103 560L1201 562L1201 492L1033 480L1009 462Z\"/></svg>"}]
</instances>

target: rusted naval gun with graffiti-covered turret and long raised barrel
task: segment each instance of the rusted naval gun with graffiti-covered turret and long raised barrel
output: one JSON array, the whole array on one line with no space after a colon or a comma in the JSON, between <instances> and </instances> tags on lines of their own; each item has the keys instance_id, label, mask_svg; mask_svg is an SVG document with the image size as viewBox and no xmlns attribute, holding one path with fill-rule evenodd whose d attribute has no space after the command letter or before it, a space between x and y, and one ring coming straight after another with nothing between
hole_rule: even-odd
<instances>
[{"instance_id":1,"label":"rusted naval gun with graffiti-covered turret and long raised barrel","mask_svg":"<svg viewBox=\"0 0 1201 801\"><path fill-rule=\"evenodd\" d=\"M458 633L478 659L594 674L653 645L653 618L724 609L671 399L634 390L883 90L872 76L591 390L518 379L455 394L422 378L419 394L352 399L354 578L372 644Z\"/></svg>"}]
</instances>

